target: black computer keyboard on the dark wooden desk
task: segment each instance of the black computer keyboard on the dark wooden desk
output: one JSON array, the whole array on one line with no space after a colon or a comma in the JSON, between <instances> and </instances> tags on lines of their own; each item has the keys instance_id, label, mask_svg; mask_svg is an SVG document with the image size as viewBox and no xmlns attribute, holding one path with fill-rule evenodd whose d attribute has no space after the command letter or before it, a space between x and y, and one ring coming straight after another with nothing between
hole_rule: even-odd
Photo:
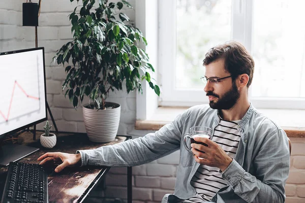
<instances>
[{"instance_id":1,"label":"black computer keyboard on the dark wooden desk","mask_svg":"<svg viewBox=\"0 0 305 203\"><path fill-rule=\"evenodd\" d=\"M39 164L10 162L3 203L48 202L48 176Z\"/></svg>"}]
</instances>

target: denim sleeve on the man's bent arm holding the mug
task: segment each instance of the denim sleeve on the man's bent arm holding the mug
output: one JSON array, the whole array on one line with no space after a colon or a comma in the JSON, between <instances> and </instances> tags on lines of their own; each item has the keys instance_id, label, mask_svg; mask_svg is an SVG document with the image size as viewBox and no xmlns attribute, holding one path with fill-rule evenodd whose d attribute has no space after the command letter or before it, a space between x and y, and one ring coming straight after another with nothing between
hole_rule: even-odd
<instances>
[{"instance_id":1,"label":"denim sleeve on the man's bent arm holding the mug","mask_svg":"<svg viewBox=\"0 0 305 203\"><path fill-rule=\"evenodd\" d=\"M277 129L266 136L253 159L255 176L246 172L236 160L222 173L234 192L247 202L285 201L285 183L289 174L289 144L286 133Z\"/></svg>"}]
</instances>

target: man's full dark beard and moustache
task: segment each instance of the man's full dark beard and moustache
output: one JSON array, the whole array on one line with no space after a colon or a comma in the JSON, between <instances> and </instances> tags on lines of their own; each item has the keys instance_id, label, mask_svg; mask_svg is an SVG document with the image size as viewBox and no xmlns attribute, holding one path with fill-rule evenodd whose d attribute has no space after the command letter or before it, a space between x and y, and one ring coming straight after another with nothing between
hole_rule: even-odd
<instances>
[{"instance_id":1,"label":"man's full dark beard and moustache","mask_svg":"<svg viewBox=\"0 0 305 203\"><path fill-rule=\"evenodd\" d=\"M212 109L217 110L228 110L231 109L237 102L240 93L238 92L235 82L232 83L232 88L224 93L222 96L219 96L212 91L206 93L207 96L215 96L218 98L218 101L210 101L209 106Z\"/></svg>"}]
</instances>

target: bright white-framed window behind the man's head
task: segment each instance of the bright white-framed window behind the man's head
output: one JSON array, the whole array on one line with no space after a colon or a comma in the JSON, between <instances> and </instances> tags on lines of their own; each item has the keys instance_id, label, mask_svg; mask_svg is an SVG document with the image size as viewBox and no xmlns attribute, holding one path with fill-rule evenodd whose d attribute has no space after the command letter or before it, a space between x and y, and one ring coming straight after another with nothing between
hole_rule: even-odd
<instances>
[{"instance_id":1,"label":"bright white-framed window behind the man's head","mask_svg":"<svg viewBox=\"0 0 305 203\"><path fill-rule=\"evenodd\" d=\"M257 108L305 109L303 1L159 0L161 106L207 104L202 60L228 40L255 60L251 102Z\"/></svg>"}]
</instances>

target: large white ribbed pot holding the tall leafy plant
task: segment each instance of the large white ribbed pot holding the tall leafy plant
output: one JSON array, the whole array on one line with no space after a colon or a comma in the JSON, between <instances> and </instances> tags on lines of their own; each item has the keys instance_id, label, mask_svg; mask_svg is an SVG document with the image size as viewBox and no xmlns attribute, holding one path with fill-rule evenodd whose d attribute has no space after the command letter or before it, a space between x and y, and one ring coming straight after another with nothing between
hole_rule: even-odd
<instances>
[{"instance_id":1,"label":"large white ribbed pot holding the tall leafy plant","mask_svg":"<svg viewBox=\"0 0 305 203\"><path fill-rule=\"evenodd\" d=\"M115 103L107 102L106 104L116 108L97 111L83 106L84 124L88 138L92 142L111 142L116 137L121 108Z\"/></svg>"}]
</instances>

